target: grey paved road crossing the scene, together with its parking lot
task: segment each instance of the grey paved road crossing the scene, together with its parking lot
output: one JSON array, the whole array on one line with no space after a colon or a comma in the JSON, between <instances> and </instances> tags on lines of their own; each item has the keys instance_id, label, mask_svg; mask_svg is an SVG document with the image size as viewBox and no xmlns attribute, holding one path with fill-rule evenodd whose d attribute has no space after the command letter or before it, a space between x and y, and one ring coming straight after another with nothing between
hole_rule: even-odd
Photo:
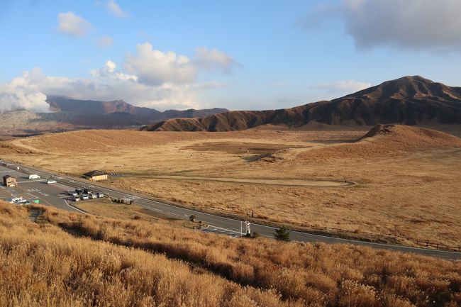
<instances>
[{"instance_id":1,"label":"grey paved road crossing the scene, together with its parking lot","mask_svg":"<svg viewBox=\"0 0 461 307\"><path fill-rule=\"evenodd\" d=\"M12 170L9 167L20 167L20 171ZM0 199L6 199L13 195L24 195L25 199L40 199L40 203L45 203L57 208L61 208L72 212L82 212L79 209L74 208L71 204L67 203L65 199L62 199L60 193L74 189L75 187L88 186L94 190L102 191L104 194L110 195L116 198L125 198L135 200L138 206L142 206L148 210L157 211L165 216L172 216L174 218L187 219L189 216L194 215L199 221L204 221L208 224L208 228L202 230L204 232L219 233L223 235L238 236L240 235L243 221L238 221L233 218L226 218L223 216L216 216L210 213L204 213L201 211L195 211L187 208L178 206L172 206L167 203L160 201L154 201L149 199L148 196L141 194L123 191L121 189L113 189L107 186L101 186L101 184L94 182L87 182L84 179L76 179L73 177L63 177L60 174L53 172L43 171L39 169L33 169L30 167L23 167L22 165L10 164L9 167L0 166L0 175L3 177L4 174L11 174L18 178L18 186L15 188L6 188L0 186ZM41 179L29 180L28 174L38 174ZM57 178L57 184L47 184L46 179L54 176ZM251 231L260 233L260 235L267 238L273 238L274 228L266 225L258 225L252 223ZM299 231L290 230L291 240L298 240L304 242L326 242L326 243L344 243L353 245L368 246L383 250L396 250L399 252L413 252L420 255L428 255L433 257L444 257L450 259L461 259L460 252L450 252L443 250L427 250L418 247L406 247L401 245L386 245L372 242L363 242L357 240L345 240L340 238L332 238L324 235L313 235L311 233L302 233Z\"/></svg>"}]
</instances>

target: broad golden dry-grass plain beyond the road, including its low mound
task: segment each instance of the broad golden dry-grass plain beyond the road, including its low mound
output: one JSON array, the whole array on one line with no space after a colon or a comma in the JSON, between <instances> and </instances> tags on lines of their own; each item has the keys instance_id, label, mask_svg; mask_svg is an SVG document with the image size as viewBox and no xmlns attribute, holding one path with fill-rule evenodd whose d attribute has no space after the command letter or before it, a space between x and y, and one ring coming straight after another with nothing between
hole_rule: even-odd
<instances>
[{"instance_id":1,"label":"broad golden dry-grass plain beyond the road, including its low mound","mask_svg":"<svg viewBox=\"0 0 461 307\"><path fill-rule=\"evenodd\" d=\"M109 184L261 223L461 245L459 139L404 127L352 143L370 127L278 129L85 130L11 140L0 154L76 176L118 172Z\"/></svg>"}]
</instances>

